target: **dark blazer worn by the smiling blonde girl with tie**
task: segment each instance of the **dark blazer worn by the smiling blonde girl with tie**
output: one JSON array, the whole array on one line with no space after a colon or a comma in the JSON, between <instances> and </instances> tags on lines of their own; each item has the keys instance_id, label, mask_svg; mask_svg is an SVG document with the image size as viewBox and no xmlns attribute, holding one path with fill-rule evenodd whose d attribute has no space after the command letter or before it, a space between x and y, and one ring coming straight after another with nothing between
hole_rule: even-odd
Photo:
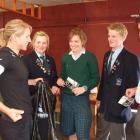
<instances>
[{"instance_id":1,"label":"dark blazer worn by the smiling blonde girl with tie","mask_svg":"<svg viewBox=\"0 0 140 140\"><path fill-rule=\"evenodd\" d=\"M32 51L32 53L25 55L22 57L28 72L29 72L29 79L35 79L35 78L43 78L45 81L48 82L49 86L52 87L53 85L56 85L57 81L57 71L56 71L56 64L52 57L46 55L46 63L47 63L47 71L44 71L43 68L41 68L41 60L37 56L35 51ZM34 94L35 87L30 86L30 92L31 94Z\"/></svg>"}]
</instances>

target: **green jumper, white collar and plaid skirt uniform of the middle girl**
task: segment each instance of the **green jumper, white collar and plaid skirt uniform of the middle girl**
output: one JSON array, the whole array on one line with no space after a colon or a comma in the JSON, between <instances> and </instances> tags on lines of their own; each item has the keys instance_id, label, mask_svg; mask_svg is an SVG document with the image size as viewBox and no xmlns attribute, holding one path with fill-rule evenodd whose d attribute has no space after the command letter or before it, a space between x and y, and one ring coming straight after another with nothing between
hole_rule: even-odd
<instances>
[{"instance_id":1,"label":"green jumper, white collar and plaid skirt uniform of the middle girl","mask_svg":"<svg viewBox=\"0 0 140 140\"><path fill-rule=\"evenodd\" d=\"M87 91L75 96L69 87L64 87L61 95L60 128L64 135L76 134L78 140L89 140L92 121L89 93L99 82L95 55L84 49L78 58L72 52L65 54L62 58L61 78L65 82L71 78L80 87L86 86Z\"/></svg>"}]
</instances>

